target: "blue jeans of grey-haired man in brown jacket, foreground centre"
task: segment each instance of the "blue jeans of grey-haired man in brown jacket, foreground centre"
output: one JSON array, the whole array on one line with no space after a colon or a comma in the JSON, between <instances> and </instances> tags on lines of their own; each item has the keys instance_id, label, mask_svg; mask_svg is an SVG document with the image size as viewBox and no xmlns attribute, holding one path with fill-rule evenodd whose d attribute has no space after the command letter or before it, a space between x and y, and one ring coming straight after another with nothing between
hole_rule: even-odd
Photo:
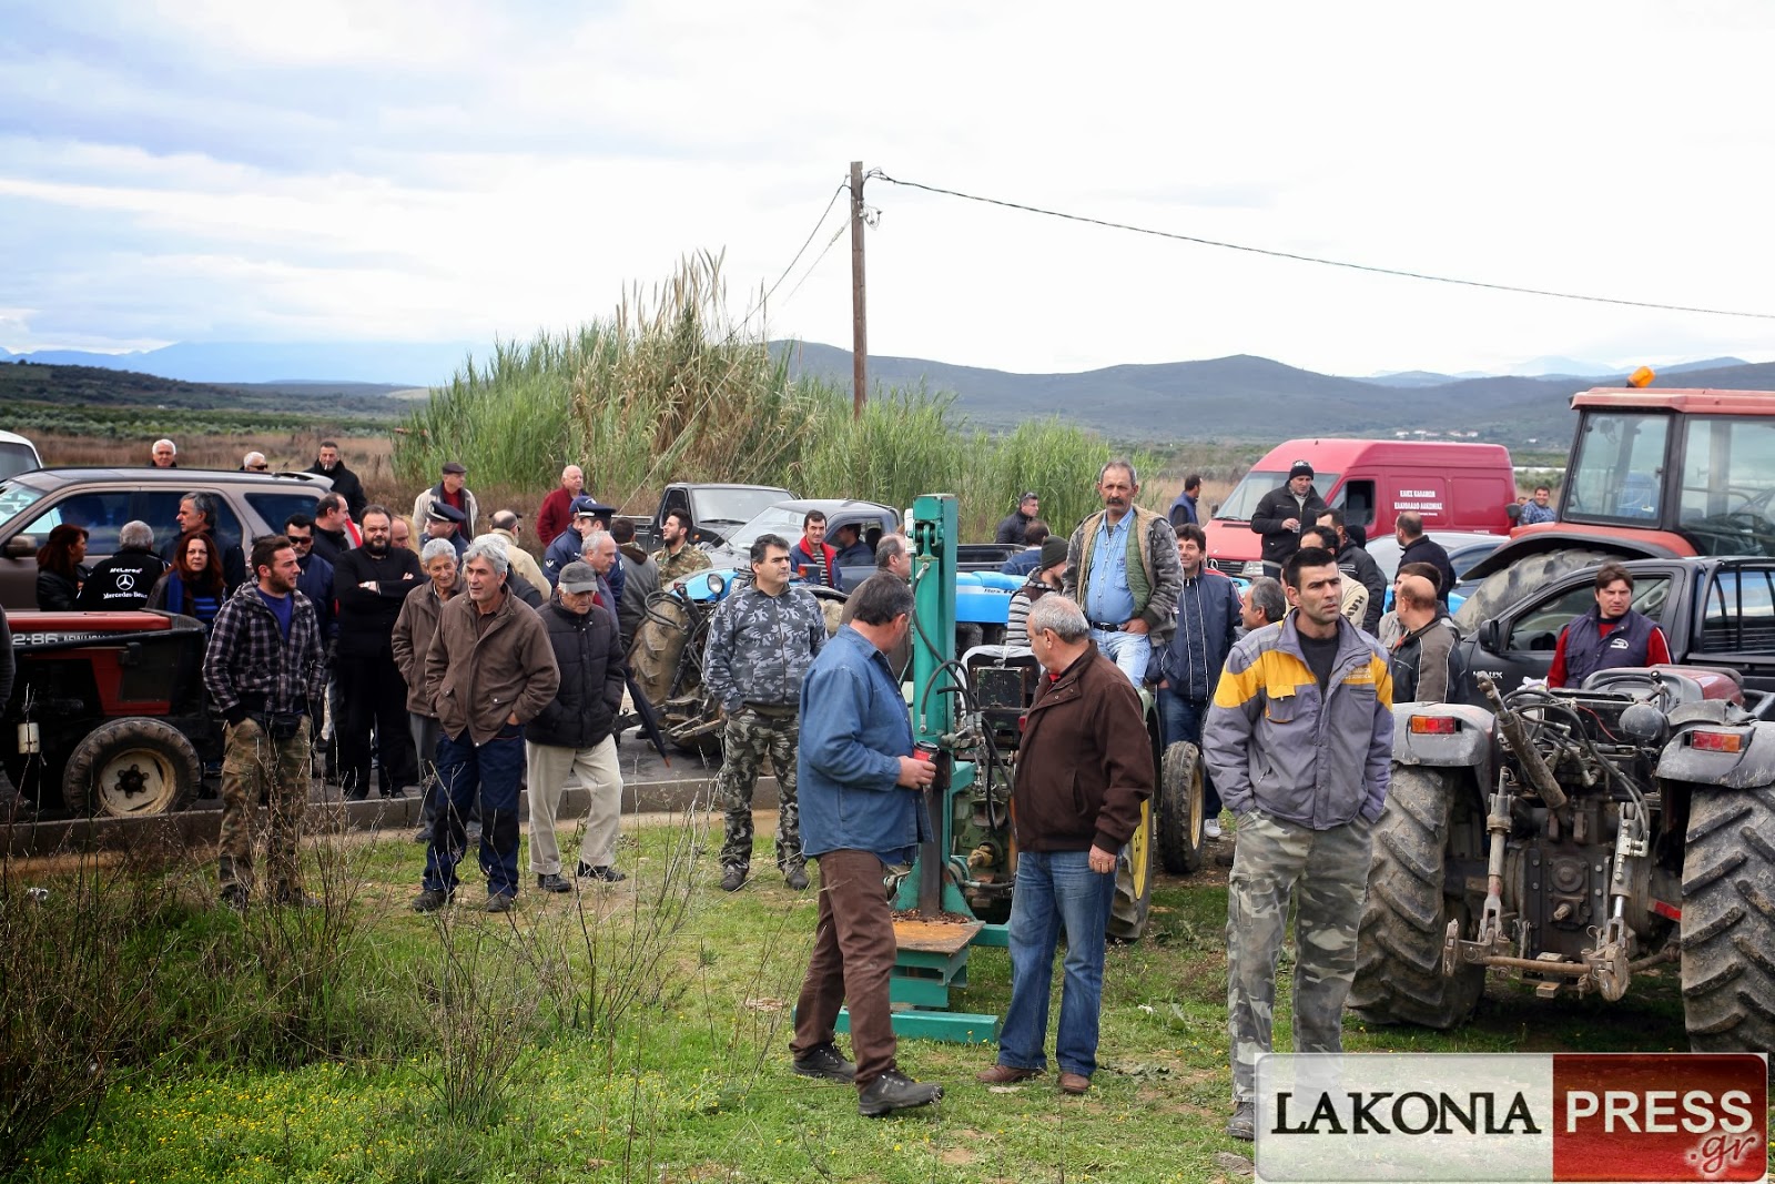
<instances>
[{"instance_id":1,"label":"blue jeans of grey-haired man in brown jacket, foreground centre","mask_svg":"<svg viewBox=\"0 0 1775 1184\"><path fill-rule=\"evenodd\" d=\"M1047 996L1054 948L1067 934L1065 982L1054 1060L1061 1072L1097 1070L1097 1021L1104 994L1104 925L1115 902L1115 872L1092 872L1085 850L1017 852L1010 898L1010 1008L999 1030L999 1065L1045 1069Z\"/></svg>"}]
</instances>

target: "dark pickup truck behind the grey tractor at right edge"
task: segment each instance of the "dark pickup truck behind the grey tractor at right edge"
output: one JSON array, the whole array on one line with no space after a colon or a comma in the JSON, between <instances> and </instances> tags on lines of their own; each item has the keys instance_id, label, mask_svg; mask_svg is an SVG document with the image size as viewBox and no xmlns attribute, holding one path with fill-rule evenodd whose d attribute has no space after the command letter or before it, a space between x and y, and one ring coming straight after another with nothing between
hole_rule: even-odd
<instances>
[{"instance_id":1,"label":"dark pickup truck behind the grey tractor at right edge","mask_svg":"<svg viewBox=\"0 0 1775 1184\"><path fill-rule=\"evenodd\" d=\"M1745 691L1775 692L1775 559L1633 559L1626 568L1633 607L1663 628L1672 662L1731 669ZM1468 602L1454 618L1468 669L1500 692L1546 678L1560 630L1592 604L1596 566L1557 575L1486 620Z\"/></svg>"}]
</instances>

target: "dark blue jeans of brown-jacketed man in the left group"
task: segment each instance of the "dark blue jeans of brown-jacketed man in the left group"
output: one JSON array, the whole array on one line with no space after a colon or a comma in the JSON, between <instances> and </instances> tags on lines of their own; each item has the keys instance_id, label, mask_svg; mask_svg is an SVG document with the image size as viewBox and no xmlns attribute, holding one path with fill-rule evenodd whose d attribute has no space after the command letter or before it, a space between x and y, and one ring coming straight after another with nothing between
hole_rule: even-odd
<instances>
[{"instance_id":1,"label":"dark blue jeans of brown-jacketed man in the left group","mask_svg":"<svg viewBox=\"0 0 1775 1184\"><path fill-rule=\"evenodd\" d=\"M481 870L488 896L518 895L518 779L524 776L524 728L506 724L486 744L467 731L438 740L438 792L444 808L426 845L424 886L456 891L456 861L463 856L463 825L481 799Z\"/></svg>"}]
</instances>

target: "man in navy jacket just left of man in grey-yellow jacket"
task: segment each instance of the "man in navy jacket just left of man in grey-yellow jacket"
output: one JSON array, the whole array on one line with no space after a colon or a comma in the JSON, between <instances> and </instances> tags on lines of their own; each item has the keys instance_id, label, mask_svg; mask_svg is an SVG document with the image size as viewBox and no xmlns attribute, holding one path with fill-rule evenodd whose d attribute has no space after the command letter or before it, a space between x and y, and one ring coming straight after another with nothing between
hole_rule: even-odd
<instances>
[{"instance_id":1,"label":"man in navy jacket just left of man in grey-yellow jacket","mask_svg":"<svg viewBox=\"0 0 1775 1184\"><path fill-rule=\"evenodd\" d=\"M1195 522L1177 527L1177 563L1184 568L1184 588L1177 593L1177 632L1172 644L1154 651L1147 676L1159 678L1159 722L1170 747L1187 740L1200 747L1202 717L1219 682L1234 630L1239 628L1239 588L1203 564L1207 534ZM1219 838L1219 793L1212 777L1202 786L1207 836Z\"/></svg>"}]
</instances>

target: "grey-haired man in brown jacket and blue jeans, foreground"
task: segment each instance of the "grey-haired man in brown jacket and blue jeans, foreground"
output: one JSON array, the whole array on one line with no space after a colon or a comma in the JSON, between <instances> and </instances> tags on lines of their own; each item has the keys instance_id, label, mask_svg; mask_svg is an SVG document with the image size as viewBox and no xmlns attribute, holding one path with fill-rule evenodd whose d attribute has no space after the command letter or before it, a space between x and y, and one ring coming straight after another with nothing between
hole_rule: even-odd
<instances>
[{"instance_id":1,"label":"grey-haired man in brown jacket and blue jeans, foreground","mask_svg":"<svg viewBox=\"0 0 1775 1184\"><path fill-rule=\"evenodd\" d=\"M1140 694L1092 644L1076 602L1042 596L1030 609L1028 630L1044 676L1024 721L1012 790L1017 886L1010 902L1010 1008L998 1063L980 1081L1008 1085L1047 1067L1047 996L1065 928L1054 1060L1060 1088L1085 1093L1097 1069L1115 863L1152 797L1152 747Z\"/></svg>"}]
</instances>

